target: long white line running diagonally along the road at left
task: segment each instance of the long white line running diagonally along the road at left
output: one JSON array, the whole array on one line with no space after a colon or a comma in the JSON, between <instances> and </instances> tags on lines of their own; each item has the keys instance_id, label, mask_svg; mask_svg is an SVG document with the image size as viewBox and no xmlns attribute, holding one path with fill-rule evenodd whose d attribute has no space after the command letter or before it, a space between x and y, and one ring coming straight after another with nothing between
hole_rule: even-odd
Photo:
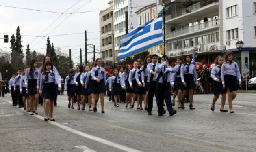
<instances>
[{"instance_id":1,"label":"long white line running diagonally along the road at left","mask_svg":"<svg viewBox=\"0 0 256 152\"><path fill-rule=\"evenodd\" d=\"M10 104L12 104L12 102L9 101L9 100L7 100L7 99L3 99L3 100L4 100L4 101L7 101L7 102L10 103ZM23 110L23 108L20 108L20 109ZM24 111L24 110L23 110L23 111ZM37 117L37 118L39 118L39 119L41 119L41 120L44 119L44 117L39 116L39 115L33 115L33 116L35 116L35 117ZM80 136L82 136L82 137L85 137L85 138L88 138L88 139L91 139L91 140L100 142L100 143L102 143L102 144L106 144L106 145L108 145L108 146L112 146L112 147L114 147L114 148L123 150L123 151L125 151L125 152L142 152L142 151L140 151L140 150L136 150L136 149L133 149L133 148L130 148L130 147L127 147L127 146L123 146L123 145L120 145L120 144L116 144L116 143L114 143L114 142L108 141L108 140L106 140L106 139L102 139L102 138L100 138L100 137L96 137L96 136L93 136L93 135L89 135L89 134L87 134L87 133L83 133L83 132L81 132L81 131L77 131L77 130L72 129L72 128L70 128L70 127L67 127L67 126L65 126L65 125L61 125L61 124L59 124L59 123L57 123L57 122L48 121L48 123L50 123L50 124L52 124L52 125L54 125L54 126L56 126L56 127L59 127L59 128L61 128L61 129L64 129L64 130L66 130L66 131L69 131L69 132L71 132L71 133L74 133L74 134L80 135Z\"/></svg>"}]
</instances>

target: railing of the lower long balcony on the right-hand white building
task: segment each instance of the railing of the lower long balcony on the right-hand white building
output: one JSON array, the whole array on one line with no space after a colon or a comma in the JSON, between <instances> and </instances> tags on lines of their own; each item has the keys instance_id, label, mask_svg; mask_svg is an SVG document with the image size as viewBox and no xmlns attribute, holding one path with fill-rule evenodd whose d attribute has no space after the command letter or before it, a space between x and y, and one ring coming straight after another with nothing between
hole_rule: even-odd
<instances>
[{"instance_id":1,"label":"railing of the lower long balcony on the right-hand white building","mask_svg":"<svg viewBox=\"0 0 256 152\"><path fill-rule=\"evenodd\" d=\"M180 30L169 32L169 33L166 34L166 38L171 38L171 37L175 37L175 36L180 36L182 34L188 34L188 33L191 33L191 32L196 32L198 30L207 29L209 27L219 27L219 20L214 19L212 21L207 21L207 22L200 23L200 24L197 24L197 25L185 27L185 28L180 29Z\"/></svg>"}]
</instances>

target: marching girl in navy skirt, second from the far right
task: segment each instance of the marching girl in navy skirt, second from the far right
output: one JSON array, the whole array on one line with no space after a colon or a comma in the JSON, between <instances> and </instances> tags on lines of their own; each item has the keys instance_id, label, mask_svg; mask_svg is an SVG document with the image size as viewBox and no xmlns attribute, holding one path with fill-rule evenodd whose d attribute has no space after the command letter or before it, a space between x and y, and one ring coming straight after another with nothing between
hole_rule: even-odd
<instances>
[{"instance_id":1,"label":"marching girl in navy skirt, second from the far right","mask_svg":"<svg viewBox=\"0 0 256 152\"><path fill-rule=\"evenodd\" d=\"M219 99L219 94L221 94L221 112L228 112L228 110L224 110L225 102L226 102L226 91L222 87L222 82L221 82L221 65L223 63L223 58L222 56L218 56L216 58L216 66L213 67L211 71L211 77L213 78L213 103L210 107L212 111L214 111L215 108L215 102L217 99Z\"/></svg>"}]
</instances>

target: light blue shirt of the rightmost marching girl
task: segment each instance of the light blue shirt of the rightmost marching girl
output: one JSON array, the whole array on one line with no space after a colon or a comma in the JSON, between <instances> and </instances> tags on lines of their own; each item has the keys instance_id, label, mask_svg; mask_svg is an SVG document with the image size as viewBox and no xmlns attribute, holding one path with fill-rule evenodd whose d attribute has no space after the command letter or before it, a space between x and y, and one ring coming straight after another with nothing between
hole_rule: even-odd
<instances>
[{"instance_id":1,"label":"light blue shirt of the rightmost marching girl","mask_svg":"<svg viewBox=\"0 0 256 152\"><path fill-rule=\"evenodd\" d=\"M241 74L239 71L239 66L235 61L232 61L230 64L229 62L224 62L221 66L221 81L222 84L225 84L224 76L225 75L232 75L237 76L239 82L241 82Z\"/></svg>"}]
</instances>

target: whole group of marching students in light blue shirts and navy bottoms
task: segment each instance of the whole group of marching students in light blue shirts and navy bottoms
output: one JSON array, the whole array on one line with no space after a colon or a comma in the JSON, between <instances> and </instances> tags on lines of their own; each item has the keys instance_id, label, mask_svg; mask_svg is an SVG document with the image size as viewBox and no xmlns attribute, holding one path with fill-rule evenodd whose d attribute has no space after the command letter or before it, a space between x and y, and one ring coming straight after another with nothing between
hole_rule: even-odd
<instances>
[{"instance_id":1,"label":"whole group of marching students in light blue shirts and navy bottoms","mask_svg":"<svg viewBox=\"0 0 256 152\"><path fill-rule=\"evenodd\" d=\"M137 101L138 110L143 110L144 103L144 110L152 115L155 96L158 116L166 113L164 107L169 116L173 116L177 113L173 108L177 96L177 108L184 109L184 100L188 97L189 109L193 110L193 94L198 81L196 66L191 60L190 55L177 57L175 65L171 67L166 55L161 57L161 63L158 63L158 55L150 55L144 62L134 61L114 70L103 68L100 58L91 65L79 65L77 71L70 69L65 78L64 89L69 102L67 106L74 109L76 100L77 110L85 110L87 103L89 111L97 112L100 99L100 112L105 113L104 95L107 91L109 101L112 99L116 108L121 102L125 103L126 108L134 108ZM233 61L232 52L216 58L216 66L211 69L210 76L213 79L214 94L210 109L215 110L215 102L221 94L220 111L228 112L224 109L227 95L229 112L234 113L232 101L237 95L238 86L241 87L241 74L237 63ZM49 55L44 57L40 68L37 68L37 60L33 59L29 66L18 69L17 74L14 73L9 80L13 106L19 104L30 115L38 114L38 101L42 98L45 121L55 121L53 109L61 89L61 76ZM171 94L174 96L173 101Z\"/></svg>"}]
</instances>

